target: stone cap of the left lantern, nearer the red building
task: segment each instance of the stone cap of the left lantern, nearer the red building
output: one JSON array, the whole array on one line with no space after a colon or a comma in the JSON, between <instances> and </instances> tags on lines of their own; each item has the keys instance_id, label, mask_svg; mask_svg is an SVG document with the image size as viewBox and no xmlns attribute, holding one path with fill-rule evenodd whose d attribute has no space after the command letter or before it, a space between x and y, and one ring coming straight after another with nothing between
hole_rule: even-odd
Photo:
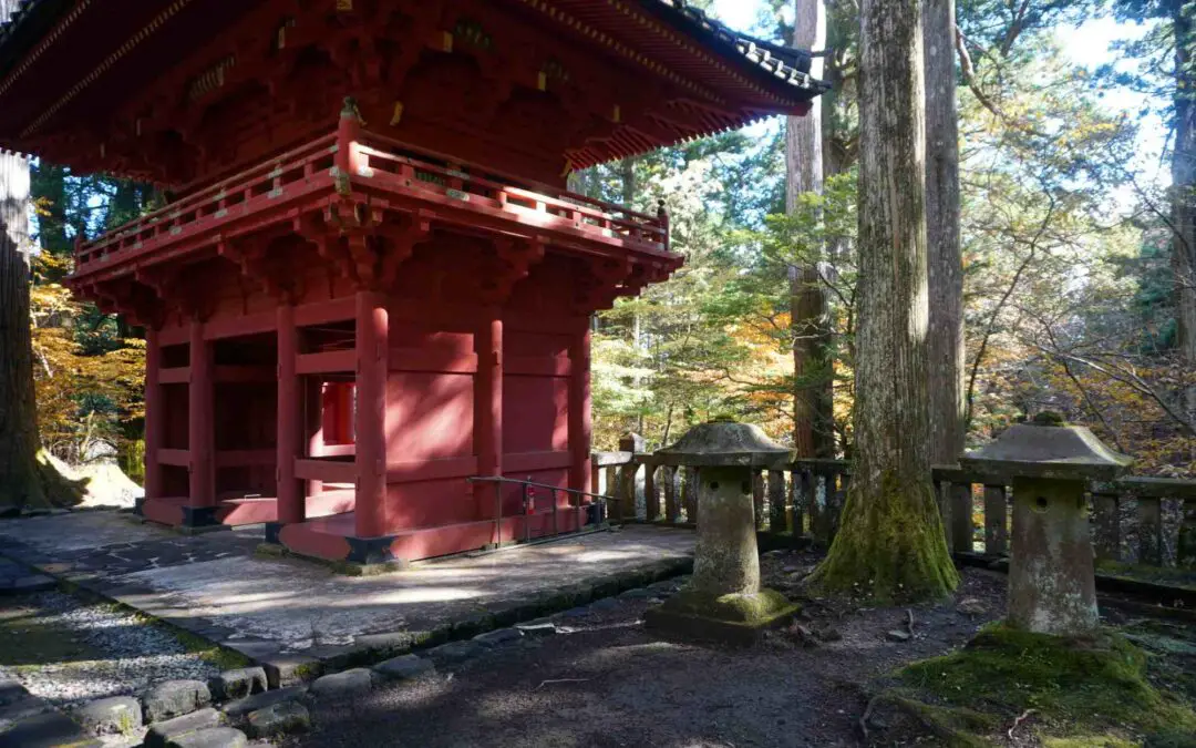
<instances>
[{"instance_id":1,"label":"stone cap of the left lantern, nearer the red building","mask_svg":"<svg viewBox=\"0 0 1196 748\"><path fill-rule=\"evenodd\" d=\"M782 468L793 452L781 446L759 426L715 419L694 426L672 446L657 450L663 464L692 467Z\"/></svg>"}]
</instances>

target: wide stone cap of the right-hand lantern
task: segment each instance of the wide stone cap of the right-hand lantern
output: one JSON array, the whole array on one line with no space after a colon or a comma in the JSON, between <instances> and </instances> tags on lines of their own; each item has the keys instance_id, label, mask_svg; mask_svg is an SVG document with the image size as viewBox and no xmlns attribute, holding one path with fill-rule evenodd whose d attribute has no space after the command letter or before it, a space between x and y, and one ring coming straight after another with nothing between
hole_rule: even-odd
<instances>
[{"instance_id":1,"label":"wide stone cap of the right-hand lantern","mask_svg":"<svg viewBox=\"0 0 1196 748\"><path fill-rule=\"evenodd\" d=\"M1009 426L993 443L959 458L965 470L1007 478L1112 480L1134 462L1105 446L1086 426L1061 425L1055 414Z\"/></svg>"}]
</instances>

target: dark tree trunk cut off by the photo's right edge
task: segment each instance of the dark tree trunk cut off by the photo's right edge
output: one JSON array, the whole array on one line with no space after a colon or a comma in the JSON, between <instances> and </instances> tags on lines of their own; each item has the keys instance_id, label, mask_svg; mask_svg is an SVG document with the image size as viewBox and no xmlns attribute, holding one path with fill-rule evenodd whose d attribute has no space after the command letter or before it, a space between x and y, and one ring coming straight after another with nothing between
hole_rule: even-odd
<instances>
[{"instance_id":1,"label":"dark tree trunk cut off by the photo's right edge","mask_svg":"<svg viewBox=\"0 0 1196 748\"><path fill-rule=\"evenodd\" d=\"M1196 72L1192 71L1192 20L1185 2L1173 2L1176 36L1176 147L1171 157L1174 236L1171 267L1176 278L1177 348L1189 372L1196 370ZM1196 418L1196 385L1183 393L1189 419Z\"/></svg>"}]
</instances>

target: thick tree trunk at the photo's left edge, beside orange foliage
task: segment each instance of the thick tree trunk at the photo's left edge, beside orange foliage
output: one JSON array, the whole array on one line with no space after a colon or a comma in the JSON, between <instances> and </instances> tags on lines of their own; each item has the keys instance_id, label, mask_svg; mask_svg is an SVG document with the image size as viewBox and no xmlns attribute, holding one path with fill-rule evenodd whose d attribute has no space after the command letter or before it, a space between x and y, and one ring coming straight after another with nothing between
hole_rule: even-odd
<instances>
[{"instance_id":1,"label":"thick tree trunk at the photo's left edge, beside orange foliage","mask_svg":"<svg viewBox=\"0 0 1196 748\"><path fill-rule=\"evenodd\" d=\"M0 0L0 18L6 18ZM0 153L0 507L45 506L29 318L29 162Z\"/></svg>"}]
</instances>

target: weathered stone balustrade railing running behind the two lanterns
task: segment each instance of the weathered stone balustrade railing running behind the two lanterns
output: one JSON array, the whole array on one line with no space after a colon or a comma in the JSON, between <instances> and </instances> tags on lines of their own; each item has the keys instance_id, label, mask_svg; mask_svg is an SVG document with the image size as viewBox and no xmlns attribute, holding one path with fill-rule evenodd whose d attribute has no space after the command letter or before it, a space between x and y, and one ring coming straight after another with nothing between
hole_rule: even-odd
<instances>
[{"instance_id":1,"label":"weathered stone balustrade railing running behind the two lanterns","mask_svg":"<svg viewBox=\"0 0 1196 748\"><path fill-rule=\"evenodd\" d=\"M611 519L666 524L696 521L694 468L660 464L647 452L596 452L594 491L611 498ZM797 460L759 470L752 493L761 529L829 545L852 480L849 462ZM934 468L947 541L956 553L1009 552L1009 480L1003 485L953 467ZM1196 568L1196 480L1124 478L1090 486L1093 547L1103 561Z\"/></svg>"}]
</instances>

